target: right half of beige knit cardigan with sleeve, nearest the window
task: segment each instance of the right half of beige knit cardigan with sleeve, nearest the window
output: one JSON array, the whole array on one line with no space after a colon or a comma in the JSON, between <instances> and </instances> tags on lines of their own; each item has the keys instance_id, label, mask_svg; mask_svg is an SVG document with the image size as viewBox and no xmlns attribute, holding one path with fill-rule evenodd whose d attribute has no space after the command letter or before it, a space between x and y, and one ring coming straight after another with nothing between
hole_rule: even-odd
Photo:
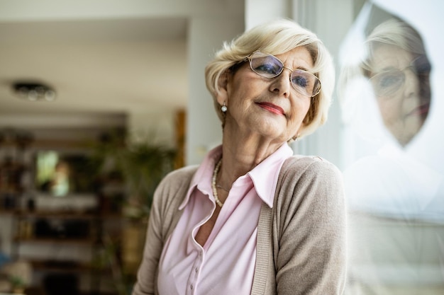
<instances>
[{"instance_id":1,"label":"right half of beige knit cardigan with sleeve, nearest the window","mask_svg":"<svg viewBox=\"0 0 444 295\"><path fill-rule=\"evenodd\" d=\"M338 168L318 157L289 158L273 208L262 211L252 294L343 294L346 215ZM268 261L261 255L267 252Z\"/></svg>"}]
</instances>

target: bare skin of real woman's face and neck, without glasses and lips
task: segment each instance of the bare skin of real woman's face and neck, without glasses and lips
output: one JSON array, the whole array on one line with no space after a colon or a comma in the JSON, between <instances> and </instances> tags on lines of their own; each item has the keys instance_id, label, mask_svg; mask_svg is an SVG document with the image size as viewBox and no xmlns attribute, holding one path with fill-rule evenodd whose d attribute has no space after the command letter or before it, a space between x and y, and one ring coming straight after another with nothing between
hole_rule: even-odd
<instances>
[{"instance_id":1,"label":"bare skin of real woman's face and neck, without glasses and lips","mask_svg":"<svg viewBox=\"0 0 444 295\"><path fill-rule=\"evenodd\" d=\"M296 47L277 55L277 58L292 69L309 70L313 66L311 55L305 47ZM253 72L248 62L236 71L221 76L219 91L218 103L226 103L228 108L223 132L230 134L230 137L223 137L223 154L230 156L223 158L216 182L231 187L235 179L257 166L283 142L297 134L297 130L304 126L303 120L310 108L311 98L301 96L292 88L289 71L267 79ZM279 105L285 115L277 115L257 105L264 101ZM226 158L233 160L227 163ZM231 170L227 171L224 166L231 167Z\"/></svg>"}]
</instances>

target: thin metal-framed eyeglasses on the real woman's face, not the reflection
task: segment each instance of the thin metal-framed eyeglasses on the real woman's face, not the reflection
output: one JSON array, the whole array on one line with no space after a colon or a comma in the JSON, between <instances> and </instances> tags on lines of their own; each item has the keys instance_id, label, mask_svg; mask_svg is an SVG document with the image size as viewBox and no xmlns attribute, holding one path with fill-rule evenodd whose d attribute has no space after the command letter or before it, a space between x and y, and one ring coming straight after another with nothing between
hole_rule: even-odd
<instances>
[{"instance_id":1,"label":"thin metal-framed eyeglasses on the real woman's face, not the reflection","mask_svg":"<svg viewBox=\"0 0 444 295\"><path fill-rule=\"evenodd\" d=\"M318 77L302 69L290 69L284 66L284 63L272 54L255 51L245 57L245 62L250 62L250 68L256 74L265 78L274 78L279 76L284 69L292 71L290 81L292 87L303 96L313 97L321 91L321 81Z\"/></svg>"}]
</instances>

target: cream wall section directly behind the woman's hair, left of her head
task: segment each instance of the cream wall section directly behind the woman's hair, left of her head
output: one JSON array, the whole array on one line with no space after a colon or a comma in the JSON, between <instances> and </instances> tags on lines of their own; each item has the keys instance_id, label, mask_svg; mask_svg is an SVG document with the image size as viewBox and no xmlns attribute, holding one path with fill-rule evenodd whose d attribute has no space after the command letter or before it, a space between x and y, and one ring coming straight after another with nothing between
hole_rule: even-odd
<instances>
[{"instance_id":1,"label":"cream wall section directly behind the woman's hair, left of her head","mask_svg":"<svg viewBox=\"0 0 444 295\"><path fill-rule=\"evenodd\" d=\"M189 103L186 163L201 163L209 149L221 144L222 128L213 98L205 86L204 68L223 41L244 30L243 16L192 18L188 31Z\"/></svg>"}]
</instances>

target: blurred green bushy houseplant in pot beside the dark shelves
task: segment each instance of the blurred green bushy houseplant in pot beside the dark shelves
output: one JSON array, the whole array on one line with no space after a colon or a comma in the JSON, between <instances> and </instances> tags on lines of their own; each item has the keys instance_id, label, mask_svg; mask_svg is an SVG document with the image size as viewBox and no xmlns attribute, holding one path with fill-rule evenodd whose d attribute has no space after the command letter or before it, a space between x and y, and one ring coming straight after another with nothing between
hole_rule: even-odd
<instances>
[{"instance_id":1,"label":"blurred green bushy houseplant in pot beside the dark shelves","mask_svg":"<svg viewBox=\"0 0 444 295\"><path fill-rule=\"evenodd\" d=\"M102 176L114 175L123 180L123 215L140 219L148 216L155 188L173 170L177 152L157 143L155 136L137 142L128 138L122 131L104 134L94 148L93 159Z\"/></svg>"}]
</instances>

